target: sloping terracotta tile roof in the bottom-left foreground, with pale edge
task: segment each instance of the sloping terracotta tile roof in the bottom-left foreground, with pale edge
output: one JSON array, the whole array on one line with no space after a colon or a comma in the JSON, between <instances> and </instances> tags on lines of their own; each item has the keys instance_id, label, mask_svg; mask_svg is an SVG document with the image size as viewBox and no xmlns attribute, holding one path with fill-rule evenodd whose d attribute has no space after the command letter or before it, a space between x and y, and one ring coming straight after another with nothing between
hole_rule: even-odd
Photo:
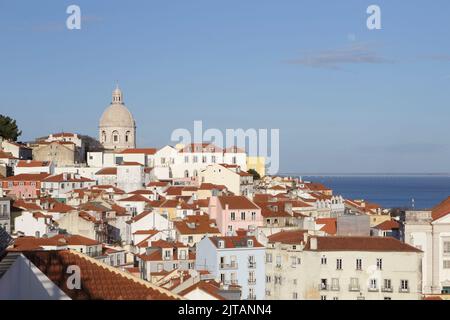
<instances>
[{"instance_id":1,"label":"sloping terracotta tile roof in the bottom-left foreground, with pale edge","mask_svg":"<svg viewBox=\"0 0 450 320\"><path fill-rule=\"evenodd\" d=\"M27 251L23 254L72 300L169 300L180 296L81 253ZM80 268L81 289L67 288L69 266Z\"/></svg>"}]
</instances>

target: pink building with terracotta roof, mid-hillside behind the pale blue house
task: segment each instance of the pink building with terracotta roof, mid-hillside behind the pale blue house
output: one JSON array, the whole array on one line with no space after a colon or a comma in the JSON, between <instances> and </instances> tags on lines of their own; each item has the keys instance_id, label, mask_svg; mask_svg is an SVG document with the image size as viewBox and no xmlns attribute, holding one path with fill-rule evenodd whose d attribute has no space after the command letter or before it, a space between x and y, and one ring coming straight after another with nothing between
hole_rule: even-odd
<instances>
[{"instance_id":1,"label":"pink building with terracotta roof, mid-hillside behind the pale blue house","mask_svg":"<svg viewBox=\"0 0 450 320\"><path fill-rule=\"evenodd\" d=\"M244 196L219 196L209 200L209 215L220 233L233 235L238 229L254 230L263 225L261 208Z\"/></svg>"}]
</instances>

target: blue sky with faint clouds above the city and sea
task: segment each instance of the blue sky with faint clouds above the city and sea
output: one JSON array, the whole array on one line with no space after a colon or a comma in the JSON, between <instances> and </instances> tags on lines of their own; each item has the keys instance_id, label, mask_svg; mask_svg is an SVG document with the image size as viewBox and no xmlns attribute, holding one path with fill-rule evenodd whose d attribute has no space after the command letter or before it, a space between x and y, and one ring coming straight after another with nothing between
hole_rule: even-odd
<instances>
[{"instance_id":1,"label":"blue sky with faint clouds above the city and sea","mask_svg":"<svg viewBox=\"0 0 450 320\"><path fill-rule=\"evenodd\" d=\"M450 172L449 33L448 0L0 0L0 113L97 137L119 81L140 147L202 120L279 128L281 172Z\"/></svg>"}]
</instances>

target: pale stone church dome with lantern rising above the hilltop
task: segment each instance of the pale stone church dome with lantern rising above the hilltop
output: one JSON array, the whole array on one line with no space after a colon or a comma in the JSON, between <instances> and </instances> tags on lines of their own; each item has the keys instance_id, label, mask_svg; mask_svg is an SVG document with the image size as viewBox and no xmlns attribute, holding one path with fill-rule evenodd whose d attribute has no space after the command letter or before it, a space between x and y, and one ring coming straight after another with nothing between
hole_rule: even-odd
<instances>
[{"instance_id":1,"label":"pale stone church dome with lantern rising above the hilltop","mask_svg":"<svg viewBox=\"0 0 450 320\"><path fill-rule=\"evenodd\" d=\"M112 102L100 118L99 141L105 150L136 148L136 123L119 87L113 91Z\"/></svg>"}]
</instances>

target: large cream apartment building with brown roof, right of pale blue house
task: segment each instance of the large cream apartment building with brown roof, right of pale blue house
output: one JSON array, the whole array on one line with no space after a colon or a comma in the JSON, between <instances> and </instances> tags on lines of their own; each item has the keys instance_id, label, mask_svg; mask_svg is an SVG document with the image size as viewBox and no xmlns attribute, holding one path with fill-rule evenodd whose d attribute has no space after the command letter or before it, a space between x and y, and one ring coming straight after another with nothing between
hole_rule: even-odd
<instances>
[{"instance_id":1,"label":"large cream apartment building with brown roof, right of pale blue house","mask_svg":"<svg viewBox=\"0 0 450 320\"><path fill-rule=\"evenodd\" d=\"M422 252L389 237L269 236L266 299L418 300Z\"/></svg>"}]
</instances>

